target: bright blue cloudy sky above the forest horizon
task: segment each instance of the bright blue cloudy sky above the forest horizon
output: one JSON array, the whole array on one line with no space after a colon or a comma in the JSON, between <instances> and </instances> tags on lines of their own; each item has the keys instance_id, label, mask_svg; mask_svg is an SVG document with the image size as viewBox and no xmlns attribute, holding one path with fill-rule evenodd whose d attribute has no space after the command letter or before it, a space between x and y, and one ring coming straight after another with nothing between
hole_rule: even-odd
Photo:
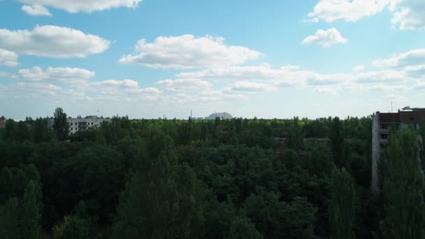
<instances>
[{"instance_id":1,"label":"bright blue cloudy sky above the forest horizon","mask_svg":"<svg viewBox=\"0 0 425 239\"><path fill-rule=\"evenodd\" d=\"M0 115L425 106L424 0L0 0Z\"/></svg>"}]
</instances>

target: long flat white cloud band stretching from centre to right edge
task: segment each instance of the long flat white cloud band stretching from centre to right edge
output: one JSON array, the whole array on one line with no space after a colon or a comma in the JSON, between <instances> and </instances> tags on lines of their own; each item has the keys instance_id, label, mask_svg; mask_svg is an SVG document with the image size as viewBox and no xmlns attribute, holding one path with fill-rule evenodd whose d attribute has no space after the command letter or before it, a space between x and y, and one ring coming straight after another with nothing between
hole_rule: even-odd
<instances>
[{"instance_id":1,"label":"long flat white cloud band stretching from centre to right edge","mask_svg":"<svg viewBox=\"0 0 425 239\"><path fill-rule=\"evenodd\" d=\"M179 73L177 78L233 82L227 92L245 96L246 93L268 92L278 87L299 87L312 89L322 94L341 94L348 90L410 89L408 86L419 79L408 67L403 69L384 68L377 71L353 71L350 73L317 73L306 71L299 66L272 68L260 66L227 66L208 68L202 71ZM416 71L425 68L415 68ZM413 71L412 69L411 71ZM425 71L424 71L425 72ZM382 87L384 85L384 87ZM401 87L402 86L402 87Z\"/></svg>"}]
</instances>

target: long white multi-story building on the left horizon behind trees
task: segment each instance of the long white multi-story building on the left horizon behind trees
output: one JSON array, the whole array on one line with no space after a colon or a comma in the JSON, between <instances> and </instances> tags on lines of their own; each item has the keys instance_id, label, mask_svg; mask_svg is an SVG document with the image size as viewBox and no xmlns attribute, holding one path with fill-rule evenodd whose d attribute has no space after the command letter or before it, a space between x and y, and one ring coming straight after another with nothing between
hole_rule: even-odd
<instances>
[{"instance_id":1,"label":"long white multi-story building on the left horizon behind trees","mask_svg":"<svg viewBox=\"0 0 425 239\"><path fill-rule=\"evenodd\" d=\"M69 117L66 119L69 126L69 134L77 133L78 131L84 131L87 129L100 127L104 122L112 122L110 118L97 117L96 115L89 115L86 117ZM48 127L53 129L54 119L48 119Z\"/></svg>"}]
</instances>

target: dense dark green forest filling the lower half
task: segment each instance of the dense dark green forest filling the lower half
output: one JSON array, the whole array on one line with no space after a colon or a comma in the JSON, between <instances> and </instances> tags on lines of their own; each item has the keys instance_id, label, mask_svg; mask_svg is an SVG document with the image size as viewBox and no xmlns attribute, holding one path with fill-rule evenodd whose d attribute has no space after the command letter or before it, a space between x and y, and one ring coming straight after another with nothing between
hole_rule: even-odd
<instances>
[{"instance_id":1,"label":"dense dark green forest filling the lower half","mask_svg":"<svg viewBox=\"0 0 425 239\"><path fill-rule=\"evenodd\" d=\"M423 146L394 133L373 194L370 117L65 119L0 129L0 238L424 236Z\"/></svg>"}]
</instances>

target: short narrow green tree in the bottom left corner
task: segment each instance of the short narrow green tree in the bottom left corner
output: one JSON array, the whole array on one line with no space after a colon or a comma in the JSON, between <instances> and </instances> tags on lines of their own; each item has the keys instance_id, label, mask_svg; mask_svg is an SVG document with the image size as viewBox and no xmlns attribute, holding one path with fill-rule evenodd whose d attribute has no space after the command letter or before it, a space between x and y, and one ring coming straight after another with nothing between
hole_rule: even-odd
<instances>
[{"instance_id":1,"label":"short narrow green tree in the bottom left corner","mask_svg":"<svg viewBox=\"0 0 425 239\"><path fill-rule=\"evenodd\" d=\"M17 198L9 198L0 205L0 238L20 239Z\"/></svg>"}]
</instances>

